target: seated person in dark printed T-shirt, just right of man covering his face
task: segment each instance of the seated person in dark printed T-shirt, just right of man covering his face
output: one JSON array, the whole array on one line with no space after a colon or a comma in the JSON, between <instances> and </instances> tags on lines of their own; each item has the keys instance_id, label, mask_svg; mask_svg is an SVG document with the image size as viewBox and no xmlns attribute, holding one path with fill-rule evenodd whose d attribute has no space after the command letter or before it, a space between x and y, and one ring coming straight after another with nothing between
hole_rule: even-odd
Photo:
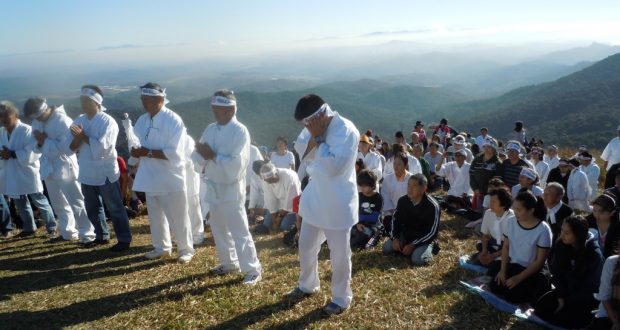
<instances>
[{"instance_id":1,"label":"seated person in dark printed T-shirt, just right of man covering his face","mask_svg":"<svg viewBox=\"0 0 620 330\"><path fill-rule=\"evenodd\" d=\"M359 222L351 228L351 249L371 248L378 243L381 226L383 198L376 192L377 176L369 170L357 175L359 186Z\"/></svg>"}]
</instances>

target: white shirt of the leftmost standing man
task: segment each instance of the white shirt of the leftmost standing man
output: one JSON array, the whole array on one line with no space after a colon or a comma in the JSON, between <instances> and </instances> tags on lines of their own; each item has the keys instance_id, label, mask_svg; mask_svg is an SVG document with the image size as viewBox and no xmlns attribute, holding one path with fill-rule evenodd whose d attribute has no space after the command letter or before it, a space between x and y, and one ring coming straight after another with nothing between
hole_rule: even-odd
<instances>
[{"instance_id":1,"label":"white shirt of the leftmost standing man","mask_svg":"<svg viewBox=\"0 0 620 330\"><path fill-rule=\"evenodd\" d=\"M11 133L0 127L0 147L15 151L17 158L0 159L0 193L10 197L43 191L39 174L40 154L34 152L34 137L30 126L19 119Z\"/></svg>"}]
</instances>

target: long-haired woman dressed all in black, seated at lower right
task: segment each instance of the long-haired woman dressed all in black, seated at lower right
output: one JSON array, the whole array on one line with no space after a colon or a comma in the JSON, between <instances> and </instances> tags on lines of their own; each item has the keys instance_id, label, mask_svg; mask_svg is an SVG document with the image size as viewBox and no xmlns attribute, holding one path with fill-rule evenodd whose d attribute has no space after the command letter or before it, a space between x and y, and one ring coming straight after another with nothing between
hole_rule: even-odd
<instances>
[{"instance_id":1,"label":"long-haired woman dressed all in black, seated at lower right","mask_svg":"<svg viewBox=\"0 0 620 330\"><path fill-rule=\"evenodd\" d=\"M592 321L596 308L603 254L588 221L570 216L562 224L560 238L553 245L551 283L555 287L534 304L543 320L563 328L582 328Z\"/></svg>"}]
</instances>

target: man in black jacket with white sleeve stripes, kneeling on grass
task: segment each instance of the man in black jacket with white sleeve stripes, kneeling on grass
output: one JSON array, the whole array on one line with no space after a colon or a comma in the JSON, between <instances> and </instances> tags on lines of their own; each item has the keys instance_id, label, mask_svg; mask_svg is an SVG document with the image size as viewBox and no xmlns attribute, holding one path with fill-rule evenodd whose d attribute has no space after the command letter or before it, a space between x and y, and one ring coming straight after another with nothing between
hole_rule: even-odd
<instances>
[{"instance_id":1,"label":"man in black jacket with white sleeve stripes, kneeling on grass","mask_svg":"<svg viewBox=\"0 0 620 330\"><path fill-rule=\"evenodd\" d=\"M423 174L409 178L407 195L396 205L391 238L383 246L384 253L400 253L410 257L416 266L427 265L438 252L437 228L441 217L439 204L426 193Z\"/></svg>"}]
</instances>

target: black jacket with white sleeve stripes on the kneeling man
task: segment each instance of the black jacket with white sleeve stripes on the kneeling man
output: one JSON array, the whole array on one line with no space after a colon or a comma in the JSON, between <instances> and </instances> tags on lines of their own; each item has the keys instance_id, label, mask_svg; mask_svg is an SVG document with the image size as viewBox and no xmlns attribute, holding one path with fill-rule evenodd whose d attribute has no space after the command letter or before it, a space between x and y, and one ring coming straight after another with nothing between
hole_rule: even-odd
<instances>
[{"instance_id":1,"label":"black jacket with white sleeve stripes on the kneeling man","mask_svg":"<svg viewBox=\"0 0 620 330\"><path fill-rule=\"evenodd\" d=\"M440 217L439 204L430 195L424 194L418 205L413 205L405 195L396 204L392 238L397 238L401 244L430 244L437 238Z\"/></svg>"}]
</instances>

